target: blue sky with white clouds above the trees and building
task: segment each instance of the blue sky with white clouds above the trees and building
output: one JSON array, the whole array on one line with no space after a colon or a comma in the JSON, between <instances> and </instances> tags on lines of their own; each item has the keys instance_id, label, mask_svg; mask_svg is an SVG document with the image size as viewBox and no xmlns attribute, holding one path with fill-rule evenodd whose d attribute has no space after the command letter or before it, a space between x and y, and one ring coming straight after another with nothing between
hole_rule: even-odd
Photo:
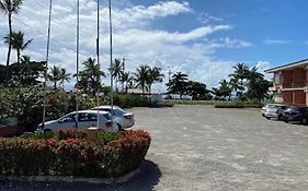
<instances>
[{"instance_id":1,"label":"blue sky with white clouds above the trees and building","mask_svg":"<svg viewBox=\"0 0 308 191\"><path fill-rule=\"evenodd\" d=\"M23 55L45 60L49 0L24 0L13 29L33 39ZM76 0L54 0L49 65L76 73ZM126 60L134 72L140 64L160 67L166 89L168 71L183 72L208 88L228 79L244 62L260 72L307 59L307 0L113 0L113 57ZM109 61L107 1L100 0L101 64ZM0 13L0 63L5 63L8 19ZM96 1L80 0L80 63L95 58ZM15 51L12 60L15 60ZM82 65L80 65L82 69ZM271 74L265 74L267 79ZM71 87L75 80L67 84ZM110 84L110 76L103 79Z\"/></svg>"}]
</instances>

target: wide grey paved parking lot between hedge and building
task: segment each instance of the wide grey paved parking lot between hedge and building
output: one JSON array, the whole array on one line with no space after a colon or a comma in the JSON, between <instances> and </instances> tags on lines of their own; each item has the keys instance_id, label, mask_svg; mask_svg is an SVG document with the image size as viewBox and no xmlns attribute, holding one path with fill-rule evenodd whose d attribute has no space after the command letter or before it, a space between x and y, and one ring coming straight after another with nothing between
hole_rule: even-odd
<instances>
[{"instance_id":1,"label":"wide grey paved parking lot between hedge and building","mask_svg":"<svg viewBox=\"0 0 308 191\"><path fill-rule=\"evenodd\" d=\"M308 188L308 126L267 120L261 117L260 109L174 106L132 111L135 128L146 129L152 136L139 175L129 182L114 186L57 182L45 183L44 190ZM20 183L2 190L24 190L25 187ZM33 190L33 186L28 188Z\"/></svg>"}]
</instances>

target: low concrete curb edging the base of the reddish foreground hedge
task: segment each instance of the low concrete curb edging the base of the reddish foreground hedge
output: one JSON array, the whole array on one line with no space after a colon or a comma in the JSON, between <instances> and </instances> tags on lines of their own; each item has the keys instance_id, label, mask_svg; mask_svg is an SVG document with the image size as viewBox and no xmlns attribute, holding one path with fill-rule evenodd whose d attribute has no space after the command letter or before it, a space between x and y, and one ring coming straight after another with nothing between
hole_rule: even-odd
<instances>
[{"instance_id":1,"label":"low concrete curb edging the base of the reddish foreground hedge","mask_svg":"<svg viewBox=\"0 0 308 191\"><path fill-rule=\"evenodd\" d=\"M141 166L136 170L130 171L127 175L124 175L118 178L87 178L87 177L73 177L73 176L0 176L0 180L10 180L10 181L36 181L36 182L85 182L94 184L112 184L112 183L123 183L130 180L133 177L138 175L141 171Z\"/></svg>"}]
</instances>

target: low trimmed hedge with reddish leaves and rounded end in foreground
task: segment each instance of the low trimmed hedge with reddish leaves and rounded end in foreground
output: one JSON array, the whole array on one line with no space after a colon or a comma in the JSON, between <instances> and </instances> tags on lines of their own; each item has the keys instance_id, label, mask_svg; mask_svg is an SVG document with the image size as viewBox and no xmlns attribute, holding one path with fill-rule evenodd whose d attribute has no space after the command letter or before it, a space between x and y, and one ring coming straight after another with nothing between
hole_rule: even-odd
<instances>
[{"instance_id":1,"label":"low trimmed hedge with reddish leaves and rounded end in foreground","mask_svg":"<svg viewBox=\"0 0 308 191\"><path fill-rule=\"evenodd\" d=\"M0 139L0 174L18 176L118 177L140 166L149 133L121 132L119 139Z\"/></svg>"}]
</instances>

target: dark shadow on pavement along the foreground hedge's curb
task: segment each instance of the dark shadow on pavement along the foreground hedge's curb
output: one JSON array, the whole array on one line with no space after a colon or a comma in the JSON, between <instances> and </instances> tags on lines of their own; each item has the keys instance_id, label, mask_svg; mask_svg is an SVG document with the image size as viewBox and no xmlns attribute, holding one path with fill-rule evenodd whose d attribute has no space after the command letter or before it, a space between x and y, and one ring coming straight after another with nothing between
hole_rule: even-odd
<instances>
[{"instance_id":1,"label":"dark shadow on pavement along the foreground hedge's curb","mask_svg":"<svg viewBox=\"0 0 308 191\"><path fill-rule=\"evenodd\" d=\"M146 160L140 172L124 183L93 184L68 182L24 182L0 179L0 191L151 191L158 184L161 171L157 164Z\"/></svg>"}]
</instances>

